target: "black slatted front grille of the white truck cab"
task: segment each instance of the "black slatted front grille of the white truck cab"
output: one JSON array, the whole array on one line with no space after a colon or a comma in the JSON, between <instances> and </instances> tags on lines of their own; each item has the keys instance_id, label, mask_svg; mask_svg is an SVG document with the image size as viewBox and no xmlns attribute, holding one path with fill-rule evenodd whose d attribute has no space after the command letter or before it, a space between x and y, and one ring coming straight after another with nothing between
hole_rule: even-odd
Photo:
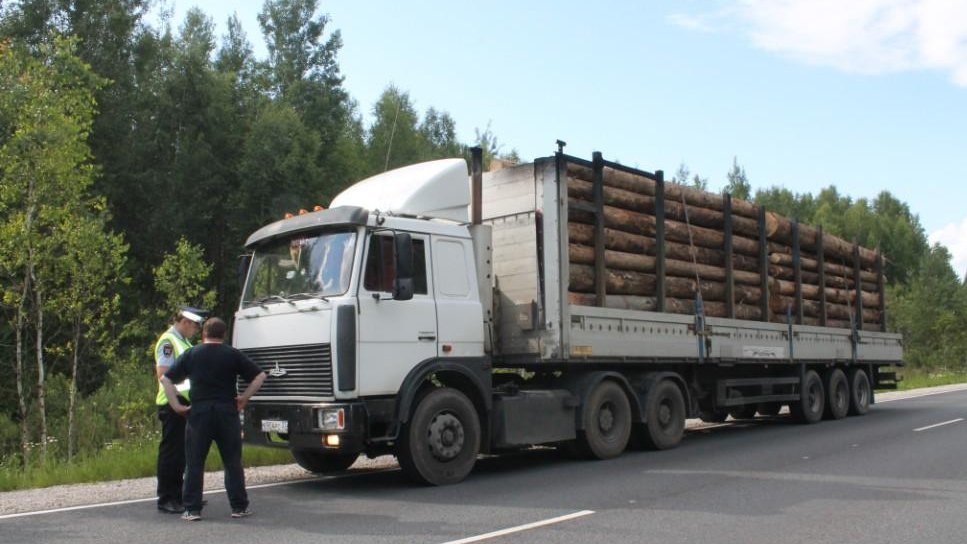
<instances>
[{"instance_id":1,"label":"black slatted front grille of the white truck cab","mask_svg":"<svg viewBox=\"0 0 967 544\"><path fill-rule=\"evenodd\" d=\"M258 397L331 397L332 350L329 344L242 350L268 376ZM239 387L247 382L239 380Z\"/></svg>"}]
</instances>

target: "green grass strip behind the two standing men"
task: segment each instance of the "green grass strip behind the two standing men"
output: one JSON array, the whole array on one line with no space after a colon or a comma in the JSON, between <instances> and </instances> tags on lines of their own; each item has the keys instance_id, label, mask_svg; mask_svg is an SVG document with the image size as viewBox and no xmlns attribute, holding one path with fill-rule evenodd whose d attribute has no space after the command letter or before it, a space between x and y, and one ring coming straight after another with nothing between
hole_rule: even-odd
<instances>
[{"instance_id":1,"label":"green grass strip behind the two standing men","mask_svg":"<svg viewBox=\"0 0 967 544\"><path fill-rule=\"evenodd\" d=\"M48 461L44 465L34 463L26 470L18 464L4 461L0 463L0 491L154 476L157 458L157 443L140 442L114 443L96 455L77 457L70 463L66 461ZM242 450L242 463L246 467L292 462L292 455L286 449L246 445ZM221 469L222 463L217 448L212 446L205 463L205 470Z\"/></svg>"}]
</instances>

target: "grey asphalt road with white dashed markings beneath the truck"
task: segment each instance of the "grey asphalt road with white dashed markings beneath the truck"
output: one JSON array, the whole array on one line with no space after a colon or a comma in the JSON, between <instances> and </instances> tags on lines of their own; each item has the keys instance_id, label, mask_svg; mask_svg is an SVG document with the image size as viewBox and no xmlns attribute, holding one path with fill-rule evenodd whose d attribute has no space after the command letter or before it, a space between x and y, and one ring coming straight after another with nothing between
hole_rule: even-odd
<instances>
[{"instance_id":1,"label":"grey asphalt road with white dashed markings beneath the truck","mask_svg":"<svg viewBox=\"0 0 967 544\"><path fill-rule=\"evenodd\" d=\"M967 391L816 425L726 424L604 462L552 450L482 459L450 487L414 487L398 470L262 487L243 520L221 492L195 523L153 502L13 517L0 542L961 544L961 418Z\"/></svg>"}]
</instances>

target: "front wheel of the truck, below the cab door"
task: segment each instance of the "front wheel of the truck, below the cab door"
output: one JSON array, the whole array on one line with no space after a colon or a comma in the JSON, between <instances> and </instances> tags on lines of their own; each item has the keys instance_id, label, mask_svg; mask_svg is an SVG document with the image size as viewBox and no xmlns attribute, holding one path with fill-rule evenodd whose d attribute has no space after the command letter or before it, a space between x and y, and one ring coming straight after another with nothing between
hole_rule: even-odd
<instances>
[{"instance_id":1,"label":"front wheel of the truck, below the cab door","mask_svg":"<svg viewBox=\"0 0 967 544\"><path fill-rule=\"evenodd\" d=\"M426 485L460 482L480 451L480 420L470 399L448 387L433 389L416 405L400 433L396 457L403 473Z\"/></svg>"}]
</instances>

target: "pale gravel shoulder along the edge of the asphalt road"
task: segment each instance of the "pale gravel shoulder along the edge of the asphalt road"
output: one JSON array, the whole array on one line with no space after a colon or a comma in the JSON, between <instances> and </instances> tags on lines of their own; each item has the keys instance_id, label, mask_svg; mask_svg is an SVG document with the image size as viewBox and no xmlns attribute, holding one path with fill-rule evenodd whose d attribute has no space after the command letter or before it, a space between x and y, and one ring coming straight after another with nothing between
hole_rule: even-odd
<instances>
[{"instance_id":1,"label":"pale gravel shoulder along the edge of the asphalt road","mask_svg":"<svg viewBox=\"0 0 967 544\"><path fill-rule=\"evenodd\" d=\"M878 393L876 398L878 402L890 402L902 398L964 389L967 389L967 384ZM700 429L703 425L700 420L688 420L689 429ZM350 467L349 472L387 469L396 466L398 466L396 459L389 455L375 459L363 457ZM316 476L295 464L245 469L245 481L248 486L313 478L316 478ZM149 477L96 484L59 485L43 489L0 492L0 516L114 501L151 501L155 497L155 485L155 478ZM205 489L208 490L206 494L209 496L224 489L221 471L205 474Z\"/></svg>"}]
</instances>

